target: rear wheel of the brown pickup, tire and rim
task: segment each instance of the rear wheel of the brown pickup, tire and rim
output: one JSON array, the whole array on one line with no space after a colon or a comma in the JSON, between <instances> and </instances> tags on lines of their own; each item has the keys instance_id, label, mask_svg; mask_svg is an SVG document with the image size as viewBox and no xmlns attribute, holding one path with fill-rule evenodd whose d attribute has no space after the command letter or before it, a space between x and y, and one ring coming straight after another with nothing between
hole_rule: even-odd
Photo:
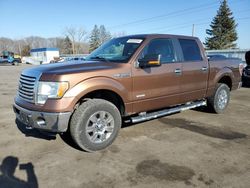
<instances>
[{"instance_id":1,"label":"rear wheel of the brown pickup, tire and rim","mask_svg":"<svg viewBox=\"0 0 250 188\"><path fill-rule=\"evenodd\" d=\"M209 109L217 114L225 111L230 100L230 89L226 84L217 84L213 96L207 99Z\"/></svg>"}]
</instances>

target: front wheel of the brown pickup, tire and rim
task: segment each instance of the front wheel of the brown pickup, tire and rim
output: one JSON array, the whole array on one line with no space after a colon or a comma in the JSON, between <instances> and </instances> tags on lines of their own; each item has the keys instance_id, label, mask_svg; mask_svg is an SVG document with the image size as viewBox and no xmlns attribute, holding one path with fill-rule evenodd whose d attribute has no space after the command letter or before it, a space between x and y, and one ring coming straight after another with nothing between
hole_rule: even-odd
<instances>
[{"instance_id":1,"label":"front wheel of the brown pickup, tire and rim","mask_svg":"<svg viewBox=\"0 0 250 188\"><path fill-rule=\"evenodd\" d=\"M103 99L90 99L73 113L70 134L85 151L98 151L113 143L121 128L117 107Z\"/></svg>"}]
</instances>

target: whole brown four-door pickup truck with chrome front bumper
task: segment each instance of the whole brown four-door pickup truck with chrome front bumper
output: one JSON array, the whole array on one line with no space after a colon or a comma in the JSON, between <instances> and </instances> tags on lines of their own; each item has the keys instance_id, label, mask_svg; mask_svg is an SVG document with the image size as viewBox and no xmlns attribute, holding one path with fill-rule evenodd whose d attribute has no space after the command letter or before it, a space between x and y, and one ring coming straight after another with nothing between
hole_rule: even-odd
<instances>
[{"instance_id":1,"label":"whole brown four-door pickup truck with chrome front bumper","mask_svg":"<svg viewBox=\"0 0 250 188\"><path fill-rule=\"evenodd\" d=\"M222 113L240 87L238 60L208 61L198 38L165 34L115 38L81 63L26 69L14 111L26 128L64 133L86 151L133 123L199 106Z\"/></svg>"}]
</instances>

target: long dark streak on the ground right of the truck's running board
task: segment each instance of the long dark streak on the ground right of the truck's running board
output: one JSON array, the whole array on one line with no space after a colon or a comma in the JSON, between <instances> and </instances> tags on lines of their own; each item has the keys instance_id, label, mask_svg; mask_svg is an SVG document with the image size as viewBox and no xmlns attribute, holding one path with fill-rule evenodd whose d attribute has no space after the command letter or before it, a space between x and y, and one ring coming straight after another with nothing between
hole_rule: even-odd
<instances>
[{"instance_id":1,"label":"long dark streak on the ground right of the truck's running board","mask_svg":"<svg viewBox=\"0 0 250 188\"><path fill-rule=\"evenodd\" d=\"M199 133L205 136L213 137L213 138L220 138L225 140L234 140L245 138L247 135L243 133L238 133L234 131L227 130L225 128L219 127L211 127L209 125L198 125L197 122L188 121L185 119L166 119L161 118L159 119L161 123L178 127L181 129L186 129L195 133Z\"/></svg>"}]
</instances>

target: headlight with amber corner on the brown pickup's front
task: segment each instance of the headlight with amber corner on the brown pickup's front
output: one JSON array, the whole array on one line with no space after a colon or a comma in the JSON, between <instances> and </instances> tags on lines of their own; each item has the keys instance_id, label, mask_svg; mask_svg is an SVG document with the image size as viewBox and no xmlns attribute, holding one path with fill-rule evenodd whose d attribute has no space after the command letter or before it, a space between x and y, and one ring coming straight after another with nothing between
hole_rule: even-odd
<instances>
[{"instance_id":1,"label":"headlight with amber corner on the brown pickup's front","mask_svg":"<svg viewBox=\"0 0 250 188\"><path fill-rule=\"evenodd\" d=\"M68 82L39 82L37 103L44 104L47 99L61 98L69 88Z\"/></svg>"}]
</instances>

